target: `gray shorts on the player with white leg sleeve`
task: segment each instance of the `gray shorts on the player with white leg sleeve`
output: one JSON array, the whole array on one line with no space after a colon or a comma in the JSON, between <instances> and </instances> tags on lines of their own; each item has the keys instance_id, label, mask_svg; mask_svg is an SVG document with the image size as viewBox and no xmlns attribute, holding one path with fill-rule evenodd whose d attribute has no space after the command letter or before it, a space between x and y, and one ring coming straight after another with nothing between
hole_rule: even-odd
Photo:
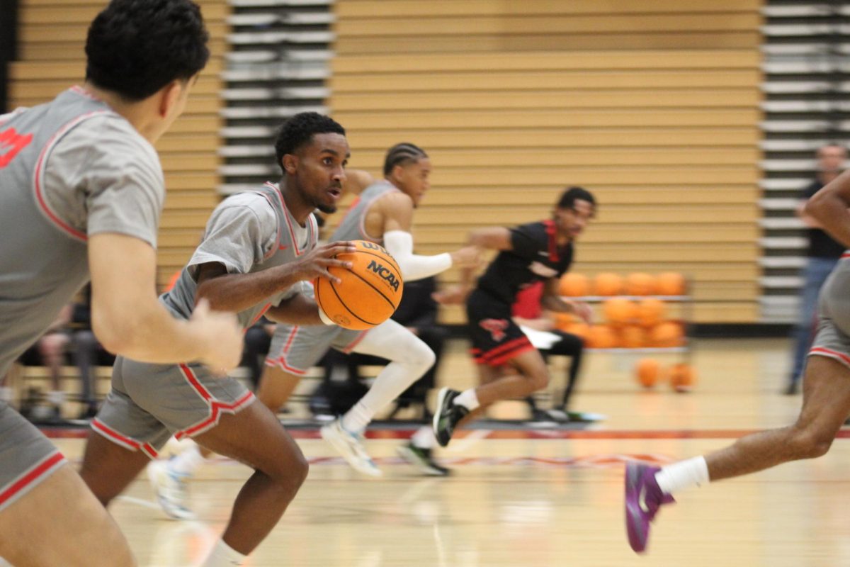
<instances>
[{"instance_id":1,"label":"gray shorts on the player with white leg sleeve","mask_svg":"<svg viewBox=\"0 0 850 567\"><path fill-rule=\"evenodd\" d=\"M279 366L303 376L328 349L349 353L365 337L366 331L352 331L336 325L285 325L278 323L271 339L266 366Z\"/></svg>"}]
</instances>

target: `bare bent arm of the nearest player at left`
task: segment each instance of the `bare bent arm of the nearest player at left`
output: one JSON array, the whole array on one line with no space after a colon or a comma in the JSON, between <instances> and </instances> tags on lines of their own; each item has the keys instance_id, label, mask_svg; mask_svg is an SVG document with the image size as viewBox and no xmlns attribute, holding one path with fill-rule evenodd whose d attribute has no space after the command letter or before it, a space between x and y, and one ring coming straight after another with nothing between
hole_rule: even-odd
<instances>
[{"instance_id":1,"label":"bare bent arm of the nearest player at left","mask_svg":"<svg viewBox=\"0 0 850 567\"><path fill-rule=\"evenodd\" d=\"M205 303L190 320L179 320L157 301L156 251L147 242L91 235L88 264L92 328L105 349L144 362L201 360L216 371L239 364L242 336L233 315L211 312Z\"/></svg>"}]
</instances>

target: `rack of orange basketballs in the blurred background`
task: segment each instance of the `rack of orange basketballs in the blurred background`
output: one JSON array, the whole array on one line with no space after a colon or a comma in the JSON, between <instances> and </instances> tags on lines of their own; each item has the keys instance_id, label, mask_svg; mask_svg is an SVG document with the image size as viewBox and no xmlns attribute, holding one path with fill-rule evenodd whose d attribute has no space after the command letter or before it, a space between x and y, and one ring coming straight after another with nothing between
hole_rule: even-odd
<instances>
[{"instance_id":1,"label":"rack of orange basketballs in the blurred background","mask_svg":"<svg viewBox=\"0 0 850 567\"><path fill-rule=\"evenodd\" d=\"M628 354L680 354L680 361L662 365L652 357L636 361L633 372L643 388L667 382L677 392L689 392L696 381L689 364L688 321L692 302L687 279L676 272L658 275L601 273L594 277L570 273L560 281L564 298L591 303L592 324L573 315L556 315L558 329L582 337L587 349Z\"/></svg>"}]
</instances>

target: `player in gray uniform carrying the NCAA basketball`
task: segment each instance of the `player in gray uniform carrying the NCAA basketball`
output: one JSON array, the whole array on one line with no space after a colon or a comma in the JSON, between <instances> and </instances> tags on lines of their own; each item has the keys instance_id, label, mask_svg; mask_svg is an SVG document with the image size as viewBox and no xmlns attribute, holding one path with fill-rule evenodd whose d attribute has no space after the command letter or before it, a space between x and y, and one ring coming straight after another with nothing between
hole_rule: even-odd
<instances>
[{"instance_id":1,"label":"player in gray uniform carrying the NCAA basketball","mask_svg":"<svg viewBox=\"0 0 850 567\"><path fill-rule=\"evenodd\" d=\"M207 223L201 244L177 283L161 296L178 319L198 299L236 312L243 328L260 315L322 325L315 302L299 282L327 277L348 242L314 248L314 208L331 212L342 193L348 162L345 130L326 116L304 112L287 121L275 142L283 170L279 185L229 196ZM175 434L255 469L236 497L224 536L205 567L239 565L275 527L307 476L307 461L275 415L234 378L218 379L195 363L148 364L119 357L112 389L92 422L82 479L108 504Z\"/></svg>"}]
</instances>

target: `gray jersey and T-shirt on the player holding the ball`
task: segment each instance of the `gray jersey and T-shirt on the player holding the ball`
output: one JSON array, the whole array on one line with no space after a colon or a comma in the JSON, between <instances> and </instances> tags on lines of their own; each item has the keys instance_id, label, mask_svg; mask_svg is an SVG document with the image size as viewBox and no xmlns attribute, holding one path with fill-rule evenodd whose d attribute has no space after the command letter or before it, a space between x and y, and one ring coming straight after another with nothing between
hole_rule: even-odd
<instances>
[{"instance_id":1,"label":"gray jersey and T-shirt on the player holding the ball","mask_svg":"<svg viewBox=\"0 0 850 567\"><path fill-rule=\"evenodd\" d=\"M288 264L315 247L318 227L313 215L305 226L297 224L286 209L280 189L267 183L257 190L229 196L212 212L201 244L170 292L161 301L174 314L189 319L195 306L198 268L201 264L224 264L229 274L250 274ZM237 314L243 327L285 298L303 291L301 282L263 303Z\"/></svg>"}]
</instances>

